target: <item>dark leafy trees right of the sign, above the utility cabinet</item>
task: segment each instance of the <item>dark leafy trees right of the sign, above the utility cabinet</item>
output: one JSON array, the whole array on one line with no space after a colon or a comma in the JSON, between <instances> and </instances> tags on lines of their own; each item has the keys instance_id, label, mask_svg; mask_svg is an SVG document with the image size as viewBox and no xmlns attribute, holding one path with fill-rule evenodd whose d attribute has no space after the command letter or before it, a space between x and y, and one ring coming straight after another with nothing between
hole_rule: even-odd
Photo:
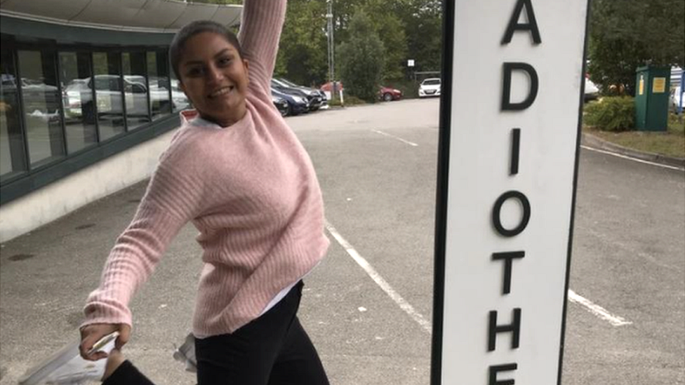
<instances>
[{"instance_id":1,"label":"dark leafy trees right of the sign, above the utility cabinet","mask_svg":"<svg viewBox=\"0 0 685 385\"><path fill-rule=\"evenodd\" d=\"M644 65L684 66L684 0L594 0L590 22L592 81L635 93L635 70Z\"/></svg>"}]
</instances>

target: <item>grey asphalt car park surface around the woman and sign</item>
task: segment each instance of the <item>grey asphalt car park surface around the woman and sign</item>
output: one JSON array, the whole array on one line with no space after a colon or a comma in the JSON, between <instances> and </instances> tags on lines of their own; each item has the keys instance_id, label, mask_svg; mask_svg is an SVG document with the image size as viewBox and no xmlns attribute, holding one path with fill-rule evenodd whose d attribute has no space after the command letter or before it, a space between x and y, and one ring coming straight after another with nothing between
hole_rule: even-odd
<instances>
[{"instance_id":1,"label":"grey asphalt car park surface around the woman and sign","mask_svg":"<svg viewBox=\"0 0 685 385\"><path fill-rule=\"evenodd\" d=\"M326 204L331 248L305 280L300 318L333 385L429 384L438 114L434 99L287 119ZM0 385L78 338L144 189L1 245ZM581 151L563 384L685 384L684 234L682 170ZM171 353L191 324L196 235L180 232L133 300L125 353L157 384L194 384Z\"/></svg>"}]
</instances>

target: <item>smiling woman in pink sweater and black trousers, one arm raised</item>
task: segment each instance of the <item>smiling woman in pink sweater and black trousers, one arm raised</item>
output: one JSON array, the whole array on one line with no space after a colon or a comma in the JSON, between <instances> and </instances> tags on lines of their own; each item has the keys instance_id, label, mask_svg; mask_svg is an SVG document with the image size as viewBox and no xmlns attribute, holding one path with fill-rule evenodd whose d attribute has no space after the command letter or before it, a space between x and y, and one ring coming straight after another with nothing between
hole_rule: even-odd
<instances>
[{"instance_id":1,"label":"smiling woman in pink sweater and black trousers, one arm raised","mask_svg":"<svg viewBox=\"0 0 685 385\"><path fill-rule=\"evenodd\" d=\"M131 332L128 302L187 222L203 248L193 334L199 385L328 384L296 312L324 257L312 162L272 104L285 0L246 0L239 36L213 22L176 34L171 63L194 110L175 133L86 303L81 355Z\"/></svg>"}]
</instances>

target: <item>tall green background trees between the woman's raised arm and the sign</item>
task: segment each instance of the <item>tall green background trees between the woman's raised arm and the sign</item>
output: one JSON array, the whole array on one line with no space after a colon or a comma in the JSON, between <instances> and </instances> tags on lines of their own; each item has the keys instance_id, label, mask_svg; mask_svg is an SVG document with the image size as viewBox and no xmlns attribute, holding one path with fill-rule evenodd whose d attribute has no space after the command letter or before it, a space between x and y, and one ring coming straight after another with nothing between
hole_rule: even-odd
<instances>
[{"instance_id":1,"label":"tall green background trees between the woman's raised arm and the sign","mask_svg":"<svg viewBox=\"0 0 685 385\"><path fill-rule=\"evenodd\" d=\"M243 0L192 0L195 3L242 4ZM288 0L274 74L305 86L328 81L325 0ZM352 19L364 11L385 47L382 79L408 79L413 71L441 67L441 0L333 0L335 78L340 79L337 48L350 40ZM407 60L415 60L409 69ZM347 86L347 85L346 85Z\"/></svg>"}]
</instances>

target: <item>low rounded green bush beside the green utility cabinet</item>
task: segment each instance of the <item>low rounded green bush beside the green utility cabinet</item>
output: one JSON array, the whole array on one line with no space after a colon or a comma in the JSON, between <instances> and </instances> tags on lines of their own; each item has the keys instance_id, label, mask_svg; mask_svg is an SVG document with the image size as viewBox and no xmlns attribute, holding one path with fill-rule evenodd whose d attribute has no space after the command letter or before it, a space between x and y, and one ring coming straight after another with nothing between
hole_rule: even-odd
<instances>
[{"instance_id":1,"label":"low rounded green bush beside the green utility cabinet","mask_svg":"<svg viewBox=\"0 0 685 385\"><path fill-rule=\"evenodd\" d=\"M604 131L627 131L635 128L635 100L627 96L603 97L588 104L585 125Z\"/></svg>"}]
</instances>

